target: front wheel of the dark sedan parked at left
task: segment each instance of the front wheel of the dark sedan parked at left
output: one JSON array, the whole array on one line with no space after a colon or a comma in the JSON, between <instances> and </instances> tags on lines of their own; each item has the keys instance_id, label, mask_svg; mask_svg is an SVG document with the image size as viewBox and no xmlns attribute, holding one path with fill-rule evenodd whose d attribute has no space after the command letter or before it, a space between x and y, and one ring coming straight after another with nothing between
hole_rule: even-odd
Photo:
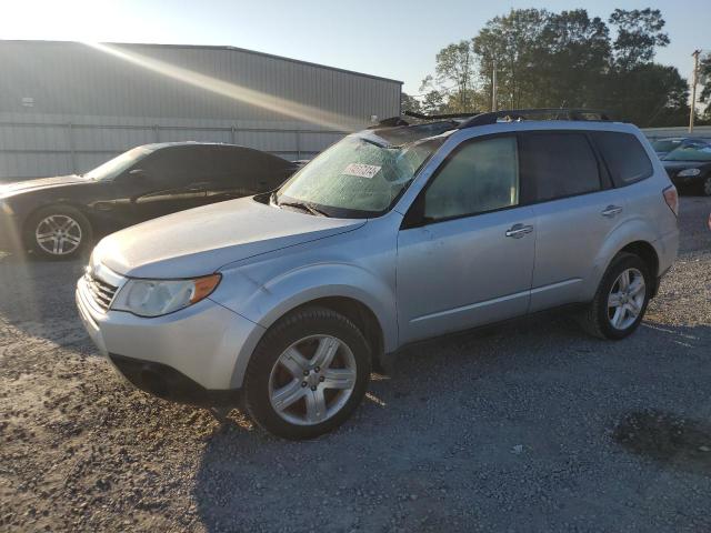
<instances>
[{"instance_id":1,"label":"front wheel of the dark sedan parked at left","mask_svg":"<svg viewBox=\"0 0 711 533\"><path fill-rule=\"evenodd\" d=\"M42 237L43 235L43 237ZM32 213L26 224L27 248L49 260L77 259L90 247L91 224L79 210L50 205Z\"/></svg>"}]
</instances>

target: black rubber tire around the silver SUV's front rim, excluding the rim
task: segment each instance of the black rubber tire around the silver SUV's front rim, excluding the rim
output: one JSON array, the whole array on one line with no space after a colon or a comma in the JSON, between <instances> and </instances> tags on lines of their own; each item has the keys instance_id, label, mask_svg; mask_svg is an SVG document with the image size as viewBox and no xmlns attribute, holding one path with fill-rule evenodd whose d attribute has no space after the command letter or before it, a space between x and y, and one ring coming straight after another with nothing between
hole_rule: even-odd
<instances>
[{"instance_id":1,"label":"black rubber tire around the silver SUV's front rim, excluding the rim","mask_svg":"<svg viewBox=\"0 0 711 533\"><path fill-rule=\"evenodd\" d=\"M343 408L316 425L298 425L283 420L272 408L269 378L283 351L309 335L332 335L346 343L356 359L356 386ZM358 408L370 380L371 352L360 330L346 316L326 308L306 308L278 321L259 342L244 378L247 410L263 429L284 439L313 439L341 425Z\"/></svg>"}]
</instances>

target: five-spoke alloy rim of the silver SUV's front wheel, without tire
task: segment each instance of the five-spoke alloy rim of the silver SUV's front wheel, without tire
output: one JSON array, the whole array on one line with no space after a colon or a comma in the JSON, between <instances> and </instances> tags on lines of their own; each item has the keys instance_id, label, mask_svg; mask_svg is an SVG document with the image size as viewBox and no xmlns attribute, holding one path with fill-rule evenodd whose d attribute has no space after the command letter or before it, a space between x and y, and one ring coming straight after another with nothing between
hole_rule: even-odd
<instances>
[{"instance_id":1,"label":"five-spoke alloy rim of the silver SUV's front wheel, without tire","mask_svg":"<svg viewBox=\"0 0 711 533\"><path fill-rule=\"evenodd\" d=\"M346 405L356 379L356 358L343 341L310 335L292 343L274 363L269 399L287 422L316 425Z\"/></svg>"}]
</instances>

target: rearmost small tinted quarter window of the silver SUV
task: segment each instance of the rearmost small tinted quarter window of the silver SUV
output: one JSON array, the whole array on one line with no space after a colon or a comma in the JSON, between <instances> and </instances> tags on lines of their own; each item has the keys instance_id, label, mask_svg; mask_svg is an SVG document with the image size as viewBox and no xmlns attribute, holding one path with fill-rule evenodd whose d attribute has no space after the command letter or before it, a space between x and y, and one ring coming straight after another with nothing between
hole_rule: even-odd
<instances>
[{"instance_id":1,"label":"rearmost small tinted quarter window of the silver SUV","mask_svg":"<svg viewBox=\"0 0 711 533\"><path fill-rule=\"evenodd\" d=\"M652 162L637 137L613 131L595 131L592 135L614 187L630 185L652 175Z\"/></svg>"}]
</instances>

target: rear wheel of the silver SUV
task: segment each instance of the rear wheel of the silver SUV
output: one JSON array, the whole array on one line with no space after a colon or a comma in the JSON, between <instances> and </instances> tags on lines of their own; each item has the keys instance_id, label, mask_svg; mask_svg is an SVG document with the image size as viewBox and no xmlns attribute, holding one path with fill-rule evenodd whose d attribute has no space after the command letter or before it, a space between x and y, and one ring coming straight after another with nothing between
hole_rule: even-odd
<instances>
[{"instance_id":1,"label":"rear wheel of the silver SUV","mask_svg":"<svg viewBox=\"0 0 711 533\"><path fill-rule=\"evenodd\" d=\"M625 272L629 276L627 291L620 285L621 275ZM640 279L643 283L641 288L635 285ZM637 292L632 295L635 286ZM649 304L651 291L652 279L647 263L632 253L619 253L602 276L594 299L580 316L580 323L593 336L611 340L624 339L640 325ZM624 294L625 292L629 294ZM612 293L618 298L614 298ZM610 303L614 301L619 301L620 306L611 306Z\"/></svg>"}]
</instances>

